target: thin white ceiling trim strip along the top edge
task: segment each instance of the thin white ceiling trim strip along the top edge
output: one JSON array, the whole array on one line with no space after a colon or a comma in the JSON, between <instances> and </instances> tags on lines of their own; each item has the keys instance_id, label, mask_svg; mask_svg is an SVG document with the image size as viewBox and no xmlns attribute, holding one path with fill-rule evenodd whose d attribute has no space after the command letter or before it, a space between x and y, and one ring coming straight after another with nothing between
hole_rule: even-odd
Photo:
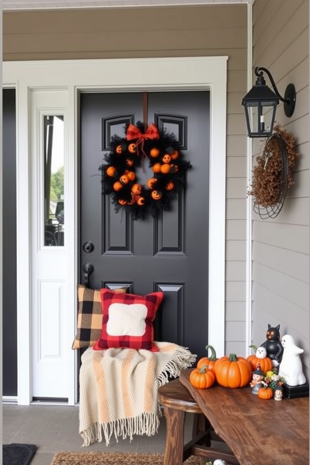
<instances>
[{"instance_id":1,"label":"thin white ceiling trim strip along the top edge","mask_svg":"<svg viewBox=\"0 0 310 465\"><path fill-rule=\"evenodd\" d=\"M3 0L3 10L42 10L55 8L151 7L170 5L252 4L254 0Z\"/></svg>"}]
</instances>

